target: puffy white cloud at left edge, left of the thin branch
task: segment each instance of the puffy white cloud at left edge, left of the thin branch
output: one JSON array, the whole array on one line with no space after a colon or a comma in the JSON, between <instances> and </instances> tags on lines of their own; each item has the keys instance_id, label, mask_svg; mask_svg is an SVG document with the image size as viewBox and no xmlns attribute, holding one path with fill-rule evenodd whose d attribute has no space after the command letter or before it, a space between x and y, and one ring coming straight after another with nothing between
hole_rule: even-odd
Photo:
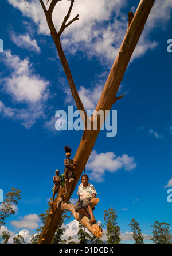
<instances>
[{"instance_id":1,"label":"puffy white cloud at left edge, left of the thin branch","mask_svg":"<svg viewBox=\"0 0 172 256\"><path fill-rule=\"evenodd\" d=\"M0 101L0 112L4 117L21 121L30 129L37 119L45 118L45 103L49 96L49 82L35 73L29 59L20 59L5 51L2 57L10 76L1 78L2 92L11 96L17 107L7 107Z\"/></svg>"}]
</instances>

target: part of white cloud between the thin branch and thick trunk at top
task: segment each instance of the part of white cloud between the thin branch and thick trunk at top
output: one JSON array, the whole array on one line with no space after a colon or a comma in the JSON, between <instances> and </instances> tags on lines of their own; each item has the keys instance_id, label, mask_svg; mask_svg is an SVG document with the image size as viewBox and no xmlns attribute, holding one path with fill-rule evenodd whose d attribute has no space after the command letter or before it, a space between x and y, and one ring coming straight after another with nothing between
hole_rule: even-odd
<instances>
[{"instance_id":1,"label":"part of white cloud between the thin branch and thick trunk at top","mask_svg":"<svg viewBox=\"0 0 172 256\"><path fill-rule=\"evenodd\" d=\"M68 49L69 42L72 42L72 54L80 50L87 52L89 58L96 56L103 62L106 59L114 60L127 29L127 17L120 12L124 5L126 1L76 2L72 15L75 17L79 13L79 21L72 24L62 37L65 50ZM116 17L110 22L108 20L111 19L112 12L115 12Z\"/></svg>"}]
</instances>

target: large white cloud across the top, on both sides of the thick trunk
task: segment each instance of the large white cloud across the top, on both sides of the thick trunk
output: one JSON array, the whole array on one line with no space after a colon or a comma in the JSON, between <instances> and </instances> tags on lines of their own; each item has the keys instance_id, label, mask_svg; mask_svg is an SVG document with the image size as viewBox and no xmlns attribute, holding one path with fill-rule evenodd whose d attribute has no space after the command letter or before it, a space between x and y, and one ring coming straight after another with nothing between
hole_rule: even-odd
<instances>
[{"instance_id":1,"label":"large white cloud across the top, on both sides of the thick trunk","mask_svg":"<svg viewBox=\"0 0 172 256\"><path fill-rule=\"evenodd\" d=\"M73 43L73 53L79 48L81 51L86 50L88 57L96 56L103 60L103 62L106 59L113 61L127 30L127 15L122 13L122 7L126 6L126 4L126 1L114 0L76 2L72 14L75 17L79 13L80 20L68 28L68 31L65 33L67 38L62 40L62 43L68 47L70 40ZM148 50L153 50L157 47L158 43L155 41L151 42L148 38L149 33L153 27L155 28L162 24L162 21L167 23L170 20L171 8L170 0L156 1L131 61L142 57ZM59 17L57 12L58 8L54 12L54 22L55 24L61 24L61 21L59 19L57 21L55 18ZM114 20L109 22L112 12L115 13L115 17Z\"/></svg>"}]
</instances>

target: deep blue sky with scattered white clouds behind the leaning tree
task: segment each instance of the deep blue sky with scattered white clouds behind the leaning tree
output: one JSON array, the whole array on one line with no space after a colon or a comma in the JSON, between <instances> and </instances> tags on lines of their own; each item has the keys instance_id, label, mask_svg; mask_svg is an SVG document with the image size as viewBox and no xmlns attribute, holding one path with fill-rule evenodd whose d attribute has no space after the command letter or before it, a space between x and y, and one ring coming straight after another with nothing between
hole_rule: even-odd
<instances>
[{"instance_id":1,"label":"deep blue sky with scattered white clouds behind the leaning tree","mask_svg":"<svg viewBox=\"0 0 172 256\"><path fill-rule=\"evenodd\" d=\"M57 131L55 113L76 110L75 102L39 1L5 0L1 3L0 55L0 189L21 190L14 216L6 219L11 235L25 240L40 227L38 215L48 208L56 168L64 172L64 146L72 157L83 131ZM59 27L69 3L54 10ZM139 0L77 0L71 18L80 14L61 36L73 79L86 110L94 110L127 29L127 13ZM31 9L30 9L31 8ZM142 37L124 74L112 107L118 112L118 133L100 131L86 165L90 182L100 199L96 219L103 223L104 210L118 210L122 239L133 243L128 227L135 217L150 243L155 221L170 224L172 204L171 61L167 40L172 38L172 3L156 0ZM172 48L172 47L171 47ZM77 187L72 202L77 198ZM65 237L76 237L73 218ZM73 231L74 230L74 231Z\"/></svg>"}]
</instances>

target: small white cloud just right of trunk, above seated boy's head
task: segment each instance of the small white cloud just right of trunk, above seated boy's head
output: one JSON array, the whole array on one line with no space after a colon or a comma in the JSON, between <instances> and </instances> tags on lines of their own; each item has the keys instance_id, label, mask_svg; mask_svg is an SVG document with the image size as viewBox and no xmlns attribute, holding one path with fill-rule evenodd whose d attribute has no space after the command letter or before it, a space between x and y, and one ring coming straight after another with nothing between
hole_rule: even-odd
<instances>
[{"instance_id":1,"label":"small white cloud just right of trunk, above seated boy's head","mask_svg":"<svg viewBox=\"0 0 172 256\"><path fill-rule=\"evenodd\" d=\"M95 182L103 182L105 171L114 173L122 168L126 171L131 171L136 168L136 163L134 157L129 157L126 154L120 157L116 156L114 152L97 154L93 150L85 168L90 171L89 176L91 179L95 180Z\"/></svg>"}]
</instances>

